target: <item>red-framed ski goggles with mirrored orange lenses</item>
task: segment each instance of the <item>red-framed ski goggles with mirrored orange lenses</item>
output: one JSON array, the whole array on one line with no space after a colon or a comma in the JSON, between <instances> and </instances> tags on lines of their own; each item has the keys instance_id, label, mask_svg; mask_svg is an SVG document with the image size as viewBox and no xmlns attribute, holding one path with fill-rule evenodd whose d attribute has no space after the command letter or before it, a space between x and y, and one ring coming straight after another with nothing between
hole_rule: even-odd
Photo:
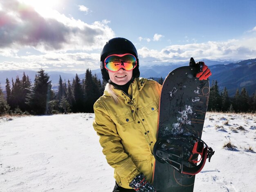
<instances>
[{"instance_id":1,"label":"red-framed ski goggles with mirrored orange lenses","mask_svg":"<svg viewBox=\"0 0 256 192\"><path fill-rule=\"evenodd\" d=\"M120 68L131 71L137 66L137 59L132 54L113 54L104 60L105 68L108 71L118 71Z\"/></svg>"}]
</instances>

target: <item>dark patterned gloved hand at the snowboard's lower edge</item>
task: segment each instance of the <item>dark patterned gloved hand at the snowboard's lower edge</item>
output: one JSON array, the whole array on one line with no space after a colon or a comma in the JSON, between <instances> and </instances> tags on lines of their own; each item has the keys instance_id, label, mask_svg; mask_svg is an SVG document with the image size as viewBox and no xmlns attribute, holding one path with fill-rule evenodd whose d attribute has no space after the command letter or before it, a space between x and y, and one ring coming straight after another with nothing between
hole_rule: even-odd
<instances>
[{"instance_id":1,"label":"dark patterned gloved hand at the snowboard's lower edge","mask_svg":"<svg viewBox=\"0 0 256 192\"><path fill-rule=\"evenodd\" d=\"M129 186L137 192L156 192L155 188L146 181L143 173L135 176Z\"/></svg>"}]
</instances>

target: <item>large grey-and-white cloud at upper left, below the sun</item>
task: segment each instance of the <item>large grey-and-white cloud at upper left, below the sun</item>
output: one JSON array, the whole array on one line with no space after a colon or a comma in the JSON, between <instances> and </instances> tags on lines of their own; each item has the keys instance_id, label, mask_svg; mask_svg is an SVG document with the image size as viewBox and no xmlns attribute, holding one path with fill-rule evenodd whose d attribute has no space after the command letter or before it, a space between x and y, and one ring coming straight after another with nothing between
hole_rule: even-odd
<instances>
[{"instance_id":1,"label":"large grey-and-white cloud at upper left, below the sun","mask_svg":"<svg viewBox=\"0 0 256 192\"><path fill-rule=\"evenodd\" d=\"M88 51L101 49L115 36L105 20L89 25L51 10L42 16L17 0L1 1L0 6L0 53L24 47L41 52Z\"/></svg>"}]
</instances>

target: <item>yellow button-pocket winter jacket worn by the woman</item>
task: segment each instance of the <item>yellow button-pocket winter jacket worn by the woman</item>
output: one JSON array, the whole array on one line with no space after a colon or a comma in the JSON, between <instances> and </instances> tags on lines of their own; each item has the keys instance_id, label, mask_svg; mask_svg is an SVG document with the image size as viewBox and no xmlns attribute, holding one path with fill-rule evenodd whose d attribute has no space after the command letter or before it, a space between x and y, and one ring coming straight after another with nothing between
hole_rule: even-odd
<instances>
[{"instance_id":1,"label":"yellow button-pocket winter jacket worn by the woman","mask_svg":"<svg viewBox=\"0 0 256 192\"><path fill-rule=\"evenodd\" d=\"M153 147L157 138L159 96L162 85L154 80L137 78L127 96L114 89L118 103L106 90L94 104L93 127L99 135L108 164L119 186L128 188L142 172L149 182L153 176Z\"/></svg>"}]
</instances>

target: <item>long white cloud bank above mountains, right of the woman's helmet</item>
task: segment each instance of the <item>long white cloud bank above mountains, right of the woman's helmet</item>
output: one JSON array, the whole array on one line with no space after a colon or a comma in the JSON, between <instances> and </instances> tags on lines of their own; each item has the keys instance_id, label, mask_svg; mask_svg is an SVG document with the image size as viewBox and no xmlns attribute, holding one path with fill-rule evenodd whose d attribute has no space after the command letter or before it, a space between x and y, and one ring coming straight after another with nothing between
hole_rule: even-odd
<instances>
[{"instance_id":1,"label":"long white cloud bank above mountains, right of the woman's helmet","mask_svg":"<svg viewBox=\"0 0 256 192\"><path fill-rule=\"evenodd\" d=\"M227 40L226 42L208 41L204 43L192 43L186 45L171 45L161 50L143 47L138 50L140 61L150 63L164 63L186 61L195 59L225 59L240 60L255 58L256 37L241 40Z\"/></svg>"}]
</instances>

